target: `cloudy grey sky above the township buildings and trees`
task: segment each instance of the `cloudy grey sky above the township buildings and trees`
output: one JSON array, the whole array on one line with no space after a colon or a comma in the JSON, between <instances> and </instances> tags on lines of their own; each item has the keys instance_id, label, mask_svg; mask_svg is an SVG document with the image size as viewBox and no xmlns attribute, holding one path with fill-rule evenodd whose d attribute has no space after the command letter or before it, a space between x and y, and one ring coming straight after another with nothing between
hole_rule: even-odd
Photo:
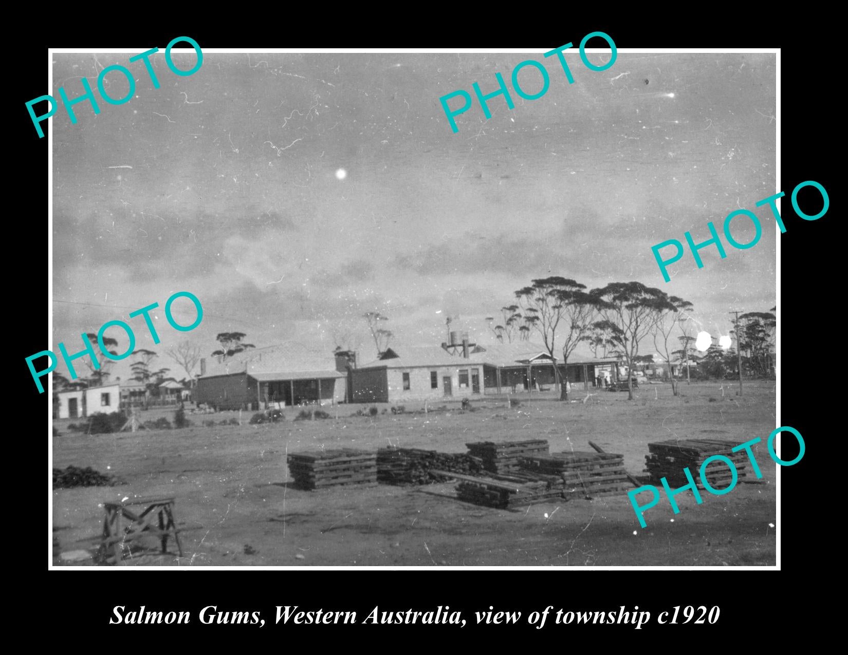
<instances>
[{"instance_id":1,"label":"cloudy grey sky above the township buildings and trees","mask_svg":"<svg viewBox=\"0 0 848 655\"><path fill-rule=\"evenodd\" d=\"M159 89L130 56L53 55L55 97L111 64L137 80L129 103L50 119L53 350L176 291L203 303L187 336L207 354L238 330L258 347L343 341L360 360L374 354L365 311L408 344L444 341L446 316L492 341L485 317L548 275L660 287L714 336L729 310L775 304L774 221L755 207L775 192L772 54L619 53L602 72L566 55L569 85L541 53L204 53L178 77L160 52ZM527 58L550 72L544 97L513 94L512 110L494 98L488 120L475 100L451 131L439 97L494 91ZM540 86L532 67L520 81ZM106 88L123 97L126 80ZM704 269L687 254L665 283L650 247L686 230L704 241L736 208L761 216L756 247L710 247ZM750 241L750 222L734 235ZM154 315L162 343L131 319L137 347L185 337Z\"/></svg>"}]
</instances>

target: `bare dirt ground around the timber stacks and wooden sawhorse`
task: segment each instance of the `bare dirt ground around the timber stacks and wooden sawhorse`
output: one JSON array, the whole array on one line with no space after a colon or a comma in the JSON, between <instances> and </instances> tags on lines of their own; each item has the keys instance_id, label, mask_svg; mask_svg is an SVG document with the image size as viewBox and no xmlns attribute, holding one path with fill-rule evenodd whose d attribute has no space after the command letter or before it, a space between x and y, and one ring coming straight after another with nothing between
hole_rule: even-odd
<instances>
[{"instance_id":1,"label":"bare dirt ground around the timber stacks and wooden sawhorse","mask_svg":"<svg viewBox=\"0 0 848 655\"><path fill-rule=\"evenodd\" d=\"M176 497L182 558L156 553L154 539L122 565L180 566L707 566L773 565L775 469L765 437L775 425L774 383L751 382L745 396L734 383L645 385L626 393L601 391L589 402L521 397L451 404L429 414L351 416L276 425L202 427L236 414L192 416L184 430L117 435L67 433L53 438L53 466L91 466L121 484L53 491L53 563L62 552L96 550L103 501L137 496ZM584 391L572 398L582 399ZM336 408L326 408L335 415ZM406 406L407 411L414 409ZM248 418L248 414L244 415ZM678 496L672 513L663 499L639 527L627 494L594 500L541 502L519 510L478 507L455 499L453 483L399 487L337 486L299 491L290 482L287 452L399 445L465 452L466 441L550 441L551 452L590 450L592 440L620 452L642 475L649 441L706 437L734 445L761 436L755 447L764 484L739 484L728 494ZM697 475L695 473L695 475ZM673 520L672 520L673 519ZM93 564L92 560L75 565Z\"/></svg>"}]
</instances>

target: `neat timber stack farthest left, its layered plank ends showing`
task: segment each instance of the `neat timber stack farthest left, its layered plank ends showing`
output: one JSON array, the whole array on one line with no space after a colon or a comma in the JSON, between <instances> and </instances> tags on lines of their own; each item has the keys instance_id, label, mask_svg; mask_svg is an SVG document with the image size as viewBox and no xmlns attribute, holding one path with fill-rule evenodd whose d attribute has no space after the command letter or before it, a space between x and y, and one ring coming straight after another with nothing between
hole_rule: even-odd
<instances>
[{"instance_id":1,"label":"neat timber stack farthest left, its layered plank ends showing","mask_svg":"<svg viewBox=\"0 0 848 655\"><path fill-rule=\"evenodd\" d=\"M377 453L344 448L321 452L292 452L288 472L294 486L320 489L337 485L377 485Z\"/></svg>"}]
</instances>

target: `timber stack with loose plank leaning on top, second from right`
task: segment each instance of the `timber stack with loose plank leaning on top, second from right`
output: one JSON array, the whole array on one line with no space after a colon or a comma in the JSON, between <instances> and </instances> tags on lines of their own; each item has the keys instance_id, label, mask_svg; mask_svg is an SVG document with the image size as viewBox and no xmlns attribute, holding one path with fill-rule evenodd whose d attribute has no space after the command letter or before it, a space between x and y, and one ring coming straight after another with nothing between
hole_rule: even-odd
<instances>
[{"instance_id":1,"label":"timber stack with loose plank leaning on top, second from right","mask_svg":"<svg viewBox=\"0 0 848 655\"><path fill-rule=\"evenodd\" d=\"M522 458L521 464L529 472L559 475L566 500L611 496L633 488L624 470L624 456L614 452L555 452Z\"/></svg>"}]
</instances>

